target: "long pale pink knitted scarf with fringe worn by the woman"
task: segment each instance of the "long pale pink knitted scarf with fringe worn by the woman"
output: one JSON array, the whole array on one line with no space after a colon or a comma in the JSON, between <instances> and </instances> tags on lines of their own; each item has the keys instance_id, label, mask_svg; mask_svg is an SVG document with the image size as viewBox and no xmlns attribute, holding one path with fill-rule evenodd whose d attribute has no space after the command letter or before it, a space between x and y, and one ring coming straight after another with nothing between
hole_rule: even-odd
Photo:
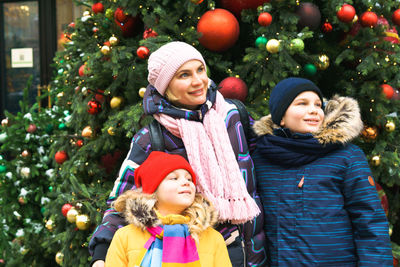
<instances>
[{"instance_id":1,"label":"long pale pink knitted scarf with fringe worn by the woman","mask_svg":"<svg viewBox=\"0 0 400 267\"><path fill-rule=\"evenodd\" d=\"M206 104L209 110L203 123L166 114L153 116L182 139L197 175L197 189L213 203L220 221L244 223L256 217L260 210L247 192L229 140L225 118L230 106L219 92L212 107L210 101Z\"/></svg>"}]
</instances>

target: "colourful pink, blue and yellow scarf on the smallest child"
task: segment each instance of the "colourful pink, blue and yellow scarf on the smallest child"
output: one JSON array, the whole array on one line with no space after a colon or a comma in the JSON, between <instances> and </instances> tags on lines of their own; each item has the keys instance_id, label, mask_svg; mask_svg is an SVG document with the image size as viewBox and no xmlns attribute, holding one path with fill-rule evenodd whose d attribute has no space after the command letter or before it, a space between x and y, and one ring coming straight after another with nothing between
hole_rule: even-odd
<instances>
[{"instance_id":1,"label":"colourful pink, blue and yellow scarf on the smallest child","mask_svg":"<svg viewBox=\"0 0 400 267\"><path fill-rule=\"evenodd\" d=\"M182 215L161 216L162 226L147 227L151 237L140 251L134 266L138 267L201 267L197 247Z\"/></svg>"}]
</instances>

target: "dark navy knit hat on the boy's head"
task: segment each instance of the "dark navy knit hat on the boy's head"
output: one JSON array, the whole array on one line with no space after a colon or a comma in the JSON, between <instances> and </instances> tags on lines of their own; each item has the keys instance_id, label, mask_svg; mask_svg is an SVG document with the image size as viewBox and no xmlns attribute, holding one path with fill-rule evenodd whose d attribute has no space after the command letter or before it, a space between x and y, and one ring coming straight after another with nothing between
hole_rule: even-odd
<instances>
[{"instance_id":1,"label":"dark navy knit hat on the boy's head","mask_svg":"<svg viewBox=\"0 0 400 267\"><path fill-rule=\"evenodd\" d=\"M321 90L310 80L304 78L290 77L280 81L274 89L272 89L269 98L269 111L272 121L280 125L282 117L285 115L287 108L293 100L302 92L313 91L323 103Z\"/></svg>"}]
</instances>

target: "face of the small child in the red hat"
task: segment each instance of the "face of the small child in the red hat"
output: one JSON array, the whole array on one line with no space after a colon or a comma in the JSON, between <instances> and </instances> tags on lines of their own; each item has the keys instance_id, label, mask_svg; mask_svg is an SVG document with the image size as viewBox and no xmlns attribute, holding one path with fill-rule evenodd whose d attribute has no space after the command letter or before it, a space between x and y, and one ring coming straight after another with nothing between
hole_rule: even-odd
<instances>
[{"instance_id":1,"label":"face of the small child in the red hat","mask_svg":"<svg viewBox=\"0 0 400 267\"><path fill-rule=\"evenodd\" d=\"M156 208L162 215L181 214L194 201L196 187L187 170L170 172L156 190Z\"/></svg>"}]
</instances>

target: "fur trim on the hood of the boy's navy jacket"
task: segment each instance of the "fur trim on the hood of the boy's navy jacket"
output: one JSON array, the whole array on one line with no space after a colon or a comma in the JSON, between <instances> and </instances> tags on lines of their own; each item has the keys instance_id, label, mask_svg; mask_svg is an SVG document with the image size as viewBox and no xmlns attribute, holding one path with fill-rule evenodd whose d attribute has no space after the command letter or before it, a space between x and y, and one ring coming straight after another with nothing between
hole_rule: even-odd
<instances>
[{"instance_id":1,"label":"fur trim on the hood of the boy's navy jacket","mask_svg":"<svg viewBox=\"0 0 400 267\"><path fill-rule=\"evenodd\" d=\"M326 104L324 112L325 118L321 129L314 134L321 144L346 144L361 133L363 122L360 108L353 98L335 95ZM276 128L280 126L272 122L271 115L262 117L253 125L254 132L258 136L273 134Z\"/></svg>"}]
</instances>

